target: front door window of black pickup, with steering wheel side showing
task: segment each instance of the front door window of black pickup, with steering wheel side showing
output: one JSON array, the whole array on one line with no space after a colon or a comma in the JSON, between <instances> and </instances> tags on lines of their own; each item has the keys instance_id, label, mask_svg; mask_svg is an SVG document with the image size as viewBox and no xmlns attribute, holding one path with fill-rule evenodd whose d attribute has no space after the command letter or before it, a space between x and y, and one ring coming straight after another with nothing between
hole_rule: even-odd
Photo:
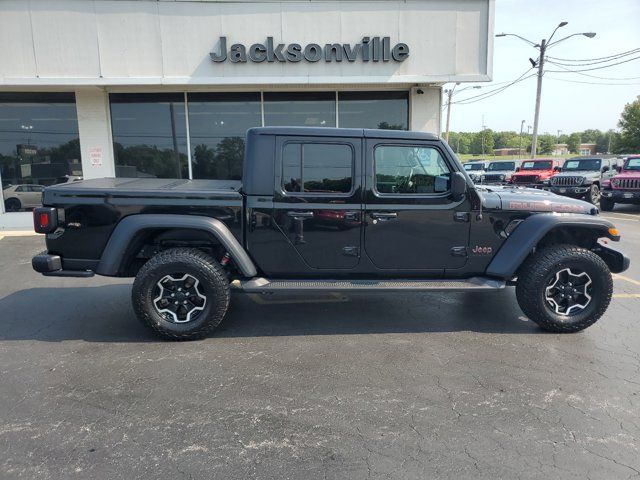
<instances>
[{"instance_id":1,"label":"front door window of black pickup, with steering wheel side showing","mask_svg":"<svg viewBox=\"0 0 640 480\"><path fill-rule=\"evenodd\" d=\"M451 170L435 148L381 145L374 162L378 193L444 193L450 188Z\"/></svg>"}]
</instances>

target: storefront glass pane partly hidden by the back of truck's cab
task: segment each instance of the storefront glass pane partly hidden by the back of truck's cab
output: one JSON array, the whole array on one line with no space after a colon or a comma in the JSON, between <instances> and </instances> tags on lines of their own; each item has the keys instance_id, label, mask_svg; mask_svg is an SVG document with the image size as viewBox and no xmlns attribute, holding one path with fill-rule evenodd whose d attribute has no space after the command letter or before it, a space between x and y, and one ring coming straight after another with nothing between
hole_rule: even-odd
<instances>
[{"instance_id":1,"label":"storefront glass pane partly hidden by the back of truck's cab","mask_svg":"<svg viewBox=\"0 0 640 480\"><path fill-rule=\"evenodd\" d=\"M262 125L259 93L189 93L193 178L242 178L247 129Z\"/></svg>"}]
</instances>

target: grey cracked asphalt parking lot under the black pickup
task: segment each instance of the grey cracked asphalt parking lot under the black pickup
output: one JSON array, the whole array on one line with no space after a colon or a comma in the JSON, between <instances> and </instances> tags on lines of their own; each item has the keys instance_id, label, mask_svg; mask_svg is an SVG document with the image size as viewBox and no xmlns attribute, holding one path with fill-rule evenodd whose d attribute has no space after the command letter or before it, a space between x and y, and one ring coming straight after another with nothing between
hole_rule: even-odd
<instances>
[{"instance_id":1,"label":"grey cracked asphalt parking lot under the black pickup","mask_svg":"<svg viewBox=\"0 0 640 480\"><path fill-rule=\"evenodd\" d=\"M166 343L129 281L44 278L43 240L5 236L0 477L640 477L640 208L605 216L632 266L574 335L513 289L234 294L217 335Z\"/></svg>"}]
</instances>

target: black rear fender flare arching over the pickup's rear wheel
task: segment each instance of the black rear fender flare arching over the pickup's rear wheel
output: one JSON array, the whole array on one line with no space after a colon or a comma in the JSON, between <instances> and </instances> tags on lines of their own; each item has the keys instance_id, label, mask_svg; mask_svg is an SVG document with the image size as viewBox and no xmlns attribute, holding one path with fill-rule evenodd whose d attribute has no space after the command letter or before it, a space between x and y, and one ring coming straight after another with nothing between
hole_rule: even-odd
<instances>
[{"instance_id":1,"label":"black rear fender flare arching over the pickup's rear wheel","mask_svg":"<svg viewBox=\"0 0 640 480\"><path fill-rule=\"evenodd\" d=\"M197 215L154 214L129 215L118 222L104 252L102 252L96 273L105 276L116 276L133 237L141 230L150 228L191 228L209 232L229 252L243 275L255 277L258 273L240 242L220 220Z\"/></svg>"}]
</instances>

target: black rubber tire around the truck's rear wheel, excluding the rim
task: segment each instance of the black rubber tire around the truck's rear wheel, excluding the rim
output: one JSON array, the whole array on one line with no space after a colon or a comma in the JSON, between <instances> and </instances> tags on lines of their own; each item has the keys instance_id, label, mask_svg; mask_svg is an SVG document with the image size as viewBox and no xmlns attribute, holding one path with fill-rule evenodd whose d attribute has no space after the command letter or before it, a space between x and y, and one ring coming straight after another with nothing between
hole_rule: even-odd
<instances>
[{"instance_id":1,"label":"black rubber tire around the truck's rear wheel, excluding the rim","mask_svg":"<svg viewBox=\"0 0 640 480\"><path fill-rule=\"evenodd\" d=\"M189 274L206 296L204 310L186 323L174 323L154 306L157 283L166 275ZM173 248L145 263L133 282L131 300L138 319L165 340L196 340L216 329L229 307L229 280L218 262L193 248Z\"/></svg>"}]
</instances>

